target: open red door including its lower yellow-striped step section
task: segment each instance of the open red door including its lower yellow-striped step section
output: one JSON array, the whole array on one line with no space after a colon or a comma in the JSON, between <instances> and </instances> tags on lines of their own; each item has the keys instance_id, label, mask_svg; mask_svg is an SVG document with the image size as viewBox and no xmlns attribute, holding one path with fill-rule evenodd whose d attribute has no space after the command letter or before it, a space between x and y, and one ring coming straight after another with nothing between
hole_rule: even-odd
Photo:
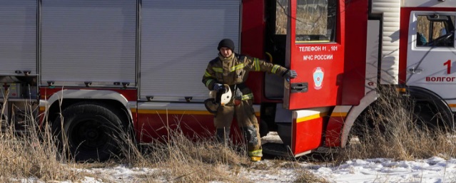
<instances>
[{"instance_id":1,"label":"open red door including its lower yellow-striped step section","mask_svg":"<svg viewBox=\"0 0 456 183\"><path fill-rule=\"evenodd\" d=\"M284 108L293 110L291 149L303 155L322 142L328 106L340 103L344 66L343 6L338 0L290 0L285 66L298 77L285 80Z\"/></svg>"}]
</instances>

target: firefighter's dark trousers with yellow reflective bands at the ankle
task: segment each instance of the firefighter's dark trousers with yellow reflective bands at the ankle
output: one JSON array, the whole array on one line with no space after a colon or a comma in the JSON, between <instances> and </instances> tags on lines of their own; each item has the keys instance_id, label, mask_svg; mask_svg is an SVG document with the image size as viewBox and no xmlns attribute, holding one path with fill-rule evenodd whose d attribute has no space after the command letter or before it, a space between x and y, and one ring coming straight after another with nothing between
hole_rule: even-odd
<instances>
[{"instance_id":1,"label":"firefighter's dark trousers with yellow reflective bands at the ankle","mask_svg":"<svg viewBox=\"0 0 456 183\"><path fill-rule=\"evenodd\" d=\"M234 115L243 137L247 141L248 156L262 157L260 129L253 110L253 100L243 100L239 105L223 105L218 108L216 117L214 117L217 139L222 142L229 139Z\"/></svg>"}]
</instances>

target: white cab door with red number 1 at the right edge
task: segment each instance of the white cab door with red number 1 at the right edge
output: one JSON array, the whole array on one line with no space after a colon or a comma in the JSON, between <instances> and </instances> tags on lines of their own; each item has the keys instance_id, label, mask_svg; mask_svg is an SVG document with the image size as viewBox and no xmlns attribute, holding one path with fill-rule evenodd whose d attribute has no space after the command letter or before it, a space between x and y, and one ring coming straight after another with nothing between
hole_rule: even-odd
<instances>
[{"instance_id":1,"label":"white cab door with red number 1 at the right edge","mask_svg":"<svg viewBox=\"0 0 456 183\"><path fill-rule=\"evenodd\" d=\"M455 12L411 11L406 84L447 99L456 97ZM451 106L451 104L450 104Z\"/></svg>"}]
</instances>

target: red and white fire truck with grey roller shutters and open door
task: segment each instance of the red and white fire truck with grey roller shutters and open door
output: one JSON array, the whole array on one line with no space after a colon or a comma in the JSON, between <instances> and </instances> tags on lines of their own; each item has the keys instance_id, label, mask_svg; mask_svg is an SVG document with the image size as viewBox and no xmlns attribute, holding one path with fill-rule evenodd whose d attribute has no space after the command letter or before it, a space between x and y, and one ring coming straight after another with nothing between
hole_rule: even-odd
<instances>
[{"instance_id":1,"label":"red and white fire truck with grey roller shutters and open door","mask_svg":"<svg viewBox=\"0 0 456 183\"><path fill-rule=\"evenodd\" d=\"M211 137L201 78L222 38L236 53L297 71L291 80L253 72L246 83L262 135L277 131L293 156L345 147L381 85L401 88L428 106L419 114L437 111L438 122L454 127L455 7L445 0L0 0L2 129L39 120L66 137L76 160L106 160L120 130L138 144L175 129Z\"/></svg>"}]
</instances>

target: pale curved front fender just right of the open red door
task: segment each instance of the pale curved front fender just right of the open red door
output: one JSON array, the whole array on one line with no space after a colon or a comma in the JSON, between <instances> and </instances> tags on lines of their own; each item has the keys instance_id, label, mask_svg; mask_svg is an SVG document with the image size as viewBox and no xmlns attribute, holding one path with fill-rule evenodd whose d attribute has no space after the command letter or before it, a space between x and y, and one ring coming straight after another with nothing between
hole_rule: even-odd
<instances>
[{"instance_id":1,"label":"pale curved front fender just right of the open red door","mask_svg":"<svg viewBox=\"0 0 456 183\"><path fill-rule=\"evenodd\" d=\"M340 147L345 147L345 145L347 145L348 135L350 135L350 130L356 118L358 118L358 116L363 112L363 110L365 110L365 108L368 108L370 104L377 100L377 98L377 91L371 90L360 100L360 105L355 105L350 109L347 117L345 118L345 123L342 128L342 135L340 135Z\"/></svg>"}]
</instances>

